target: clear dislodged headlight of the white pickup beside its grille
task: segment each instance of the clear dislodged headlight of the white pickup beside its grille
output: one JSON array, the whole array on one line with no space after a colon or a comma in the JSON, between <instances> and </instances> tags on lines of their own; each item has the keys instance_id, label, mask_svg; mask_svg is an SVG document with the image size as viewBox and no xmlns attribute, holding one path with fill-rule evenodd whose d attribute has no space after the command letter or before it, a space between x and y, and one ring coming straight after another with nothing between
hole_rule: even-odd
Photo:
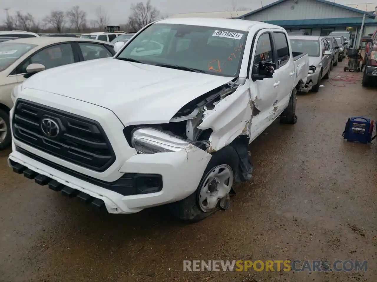
<instances>
[{"instance_id":1,"label":"clear dislodged headlight of the white pickup beside its grille","mask_svg":"<svg viewBox=\"0 0 377 282\"><path fill-rule=\"evenodd\" d=\"M154 128L140 128L132 133L132 147L139 154L177 152L191 143Z\"/></svg>"}]
</instances>

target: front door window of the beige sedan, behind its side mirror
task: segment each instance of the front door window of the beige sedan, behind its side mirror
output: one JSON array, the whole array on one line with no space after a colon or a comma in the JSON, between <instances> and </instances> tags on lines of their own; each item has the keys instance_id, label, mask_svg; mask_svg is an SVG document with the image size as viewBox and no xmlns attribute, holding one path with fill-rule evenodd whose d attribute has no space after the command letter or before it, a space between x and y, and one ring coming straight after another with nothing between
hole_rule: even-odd
<instances>
[{"instance_id":1,"label":"front door window of the beige sedan, behind its side mirror","mask_svg":"<svg viewBox=\"0 0 377 282\"><path fill-rule=\"evenodd\" d=\"M17 73L26 73L26 67L30 64L42 64L49 68L68 65L75 62L73 50L70 43L53 45L32 55L19 68Z\"/></svg>"}]
</instances>

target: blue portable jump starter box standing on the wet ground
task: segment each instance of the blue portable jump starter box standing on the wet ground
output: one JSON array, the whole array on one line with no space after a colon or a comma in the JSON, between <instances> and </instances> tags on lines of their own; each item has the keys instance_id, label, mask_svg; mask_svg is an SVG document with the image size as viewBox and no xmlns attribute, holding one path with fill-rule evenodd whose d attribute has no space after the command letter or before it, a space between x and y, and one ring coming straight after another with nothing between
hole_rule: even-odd
<instances>
[{"instance_id":1,"label":"blue portable jump starter box standing on the wet ground","mask_svg":"<svg viewBox=\"0 0 377 282\"><path fill-rule=\"evenodd\" d=\"M346 128L342 134L343 139L347 139L349 142L359 142L363 144L371 143L371 141L377 136L372 137L374 124L374 120L370 120L369 118L348 118Z\"/></svg>"}]
</instances>

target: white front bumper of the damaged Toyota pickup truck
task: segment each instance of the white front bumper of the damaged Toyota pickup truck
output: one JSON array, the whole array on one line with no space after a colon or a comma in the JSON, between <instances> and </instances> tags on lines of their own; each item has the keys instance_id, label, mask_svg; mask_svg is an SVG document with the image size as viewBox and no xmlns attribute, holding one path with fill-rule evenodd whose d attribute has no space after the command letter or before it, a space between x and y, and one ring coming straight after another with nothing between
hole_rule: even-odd
<instances>
[{"instance_id":1,"label":"white front bumper of the damaged Toyota pickup truck","mask_svg":"<svg viewBox=\"0 0 377 282\"><path fill-rule=\"evenodd\" d=\"M81 177L82 175L73 176L67 171L63 172L42 162L41 158L33 158L33 155L22 153L25 148L16 149L14 142L12 147L13 152L9 155L8 164L16 173L23 173L25 177L35 179L36 183L48 185L52 190L61 191L66 196L77 196L98 208L106 207L107 211L113 214L135 213L144 208L184 199L198 187L211 158L209 153L195 146L179 152L132 156L119 168L119 172L124 174L138 171L138 174L161 175L162 190L156 193L124 196L95 185Z\"/></svg>"}]
</instances>

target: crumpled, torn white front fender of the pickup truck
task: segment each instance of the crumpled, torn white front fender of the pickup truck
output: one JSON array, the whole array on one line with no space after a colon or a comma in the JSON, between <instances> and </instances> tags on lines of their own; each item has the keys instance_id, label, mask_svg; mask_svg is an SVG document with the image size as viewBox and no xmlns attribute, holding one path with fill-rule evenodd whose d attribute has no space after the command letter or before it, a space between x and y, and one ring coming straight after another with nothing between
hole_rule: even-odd
<instances>
[{"instance_id":1,"label":"crumpled, torn white front fender of the pickup truck","mask_svg":"<svg viewBox=\"0 0 377 282\"><path fill-rule=\"evenodd\" d=\"M218 151L240 135L248 137L253 108L248 91L245 79L233 79L182 107L170 123L187 121L188 140L205 144L209 153ZM211 134L202 136L206 130Z\"/></svg>"}]
</instances>

